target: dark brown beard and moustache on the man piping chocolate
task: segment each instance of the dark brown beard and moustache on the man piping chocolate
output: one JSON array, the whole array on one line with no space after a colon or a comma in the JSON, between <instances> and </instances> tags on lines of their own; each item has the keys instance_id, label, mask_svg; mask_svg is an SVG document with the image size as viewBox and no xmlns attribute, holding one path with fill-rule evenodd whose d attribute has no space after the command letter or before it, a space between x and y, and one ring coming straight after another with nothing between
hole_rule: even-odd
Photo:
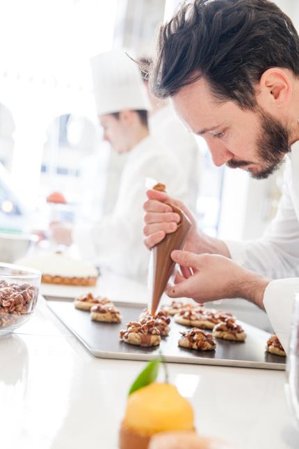
<instances>
[{"instance_id":1,"label":"dark brown beard and moustache on the man piping chocolate","mask_svg":"<svg viewBox=\"0 0 299 449\"><path fill-rule=\"evenodd\" d=\"M252 178L262 180L272 175L280 168L284 161L284 156L291 151L289 141L290 133L282 123L265 113L262 109L258 110L261 121L261 130L257 137L257 159L259 160L259 169L248 172ZM230 168L241 168L248 166L249 162L229 161L227 166Z\"/></svg>"}]
</instances>

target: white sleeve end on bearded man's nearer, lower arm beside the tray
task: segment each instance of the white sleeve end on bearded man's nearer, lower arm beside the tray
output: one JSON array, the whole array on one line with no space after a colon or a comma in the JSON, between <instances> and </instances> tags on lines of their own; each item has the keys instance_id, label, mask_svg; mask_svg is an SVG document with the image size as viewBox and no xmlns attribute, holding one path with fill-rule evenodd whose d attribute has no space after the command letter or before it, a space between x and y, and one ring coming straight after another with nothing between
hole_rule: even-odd
<instances>
[{"instance_id":1,"label":"white sleeve end on bearded man's nearer, lower arm beside the tray","mask_svg":"<svg viewBox=\"0 0 299 449\"><path fill-rule=\"evenodd\" d=\"M289 352L293 304L296 293L299 294L299 278L271 281L264 292L266 313L286 354Z\"/></svg>"}]
</instances>

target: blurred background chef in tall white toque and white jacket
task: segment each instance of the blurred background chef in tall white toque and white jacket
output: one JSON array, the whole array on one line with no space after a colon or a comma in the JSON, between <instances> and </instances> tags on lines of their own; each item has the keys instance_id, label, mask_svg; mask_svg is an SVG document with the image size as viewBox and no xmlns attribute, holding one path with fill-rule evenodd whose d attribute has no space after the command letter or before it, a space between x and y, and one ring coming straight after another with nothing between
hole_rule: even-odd
<instances>
[{"instance_id":1,"label":"blurred background chef in tall white toque and white jacket","mask_svg":"<svg viewBox=\"0 0 299 449\"><path fill-rule=\"evenodd\" d=\"M99 221L90 216L88 223L78 223L68 241L61 228L54 237L58 243L75 242L81 256L100 267L145 281L148 253L143 244L142 205L146 179L163 182L169 192L186 200L184 173L171 153L149 135L149 100L136 63L124 52L113 51L93 57L91 68L104 139L119 154L127 153L127 162L113 212ZM174 218L170 213L169 219Z\"/></svg>"}]
</instances>

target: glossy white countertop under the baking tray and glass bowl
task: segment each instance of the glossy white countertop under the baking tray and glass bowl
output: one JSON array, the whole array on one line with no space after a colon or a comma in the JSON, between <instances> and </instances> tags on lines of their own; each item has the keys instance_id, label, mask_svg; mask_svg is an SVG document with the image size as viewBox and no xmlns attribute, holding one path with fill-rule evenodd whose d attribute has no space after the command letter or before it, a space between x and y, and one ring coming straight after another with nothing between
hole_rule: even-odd
<instances>
[{"instance_id":1,"label":"glossy white countertop under the baking tray and glass bowl","mask_svg":"<svg viewBox=\"0 0 299 449\"><path fill-rule=\"evenodd\" d=\"M144 287L120 278L103 276L98 289L144 302ZM44 299L28 323L0 339L0 363L1 449L116 449L128 388L145 365L95 359ZM168 369L193 404L200 434L240 449L299 448L285 372L176 363Z\"/></svg>"}]
</instances>

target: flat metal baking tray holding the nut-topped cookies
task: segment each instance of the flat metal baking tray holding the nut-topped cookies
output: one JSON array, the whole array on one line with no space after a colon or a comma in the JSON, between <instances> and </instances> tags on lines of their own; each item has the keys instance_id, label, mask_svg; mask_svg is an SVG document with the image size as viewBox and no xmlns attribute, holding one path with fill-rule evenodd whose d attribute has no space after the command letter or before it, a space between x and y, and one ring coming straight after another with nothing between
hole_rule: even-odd
<instances>
[{"instance_id":1,"label":"flat metal baking tray holding the nut-topped cookies","mask_svg":"<svg viewBox=\"0 0 299 449\"><path fill-rule=\"evenodd\" d=\"M216 339L215 351L195 351L179 347L177 345L181 335L179 331L186 329L186 326L175 323L173 317L170 323L170 333L167 337L162 338L159 347L128 345L119 340L118 331L124 329L127 322L137 320L145 306L113 302L122 313L122 323L120 324L93 322L90 320L90 313L77 310L71 301L47 301L47 305L96 357L147 361L154 359L159 352L162 352L166 361L175 363L239 366L268 370L285 369L285 357L265 352L266 341L270 337L270 333L243 322L240 323L247 333L245 342Z\"/></svg>"}]
</instances>

